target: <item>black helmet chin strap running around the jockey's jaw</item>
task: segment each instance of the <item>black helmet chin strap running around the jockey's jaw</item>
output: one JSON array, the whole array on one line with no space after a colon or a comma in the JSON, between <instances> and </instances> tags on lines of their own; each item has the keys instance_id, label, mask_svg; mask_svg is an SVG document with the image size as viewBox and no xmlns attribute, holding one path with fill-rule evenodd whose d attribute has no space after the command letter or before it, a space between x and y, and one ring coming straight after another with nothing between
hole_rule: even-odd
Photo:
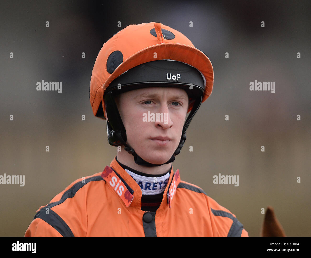
<instances>
[{"instance_id":1,"label":"black helmet chin strap running around the jockey's jaw","mask_svg":"<svg viewBox=\"0 0 311 258\"><path fill-rule=\"evenodd\" d=\"M145 161L140 156L137 155L135 150L126 142L126 131L125 127L123 125L120 113L118 111L117 105L114 101L114 97L112 92L107 92L105 94L105 104L106 104L106 112L108 116L107 120L107 134L108 134L108 142L112 146L118 146L120 144L124 145L124 150L126 150L128 153L132 154L134 157L134 162L141 166L146 167L158 167L162 166L164 164L171 163L175 160L175 156L180 153L181 148L183 147L183 144L186 141L186 130L194 116L194 114L197 112L198 108L200 107L202 103L202 96L200 99L196 99L196 101L193 104L193 108L190 111L190 114L188 115L185 124L183 125L183 132L182 136L179 141L179 145L177 149L175 150L172 157L165 163L162 164L153 164L150 162ZM110 105L110 108L107 109L108 104ZM109 110L109 111L108 111ZM110 111L114 110L114 111ZM111 121L112 123L109 123L108 121Z\"/></svg>"}]
</instances>

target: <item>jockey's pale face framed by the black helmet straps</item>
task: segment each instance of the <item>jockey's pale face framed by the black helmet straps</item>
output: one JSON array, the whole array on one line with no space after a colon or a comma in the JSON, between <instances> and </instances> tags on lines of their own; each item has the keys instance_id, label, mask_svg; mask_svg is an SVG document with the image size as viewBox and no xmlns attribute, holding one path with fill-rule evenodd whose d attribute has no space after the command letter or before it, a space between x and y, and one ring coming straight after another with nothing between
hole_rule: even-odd
<instances>
[{"instance_id":1,"label":"jockey's pale face framed by the black helmet straps","mask_svg":"<svg viewBox=\"0 0 311 258\"><path fill-rule=\"evenodd\" d=\"M153 164L170 159L180 142L188 101L186 91L174 87L137 89L117 97L127 143L138 156Z\"/></svg>"}]
</instances>

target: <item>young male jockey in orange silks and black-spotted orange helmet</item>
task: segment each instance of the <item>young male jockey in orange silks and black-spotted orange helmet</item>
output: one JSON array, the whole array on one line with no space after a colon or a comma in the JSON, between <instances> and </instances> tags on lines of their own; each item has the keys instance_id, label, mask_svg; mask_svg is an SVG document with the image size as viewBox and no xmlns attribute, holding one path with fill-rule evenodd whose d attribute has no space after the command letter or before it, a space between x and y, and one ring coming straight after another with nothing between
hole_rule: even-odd
<instances>
[{"instance_id":1,"label":"young male jockey in orange silks and black-spotted orange helmet","mask_svg":"<svg viewBox=\"0 0 311 258\"><path fill-rule=\"evenodd\" d=\"M177 30L150 22L110 38L95 61L90 101L117 156L41 206L25 236L248 236L172 167L212 86L210 60Z\"/></svg>"}]
</instances>

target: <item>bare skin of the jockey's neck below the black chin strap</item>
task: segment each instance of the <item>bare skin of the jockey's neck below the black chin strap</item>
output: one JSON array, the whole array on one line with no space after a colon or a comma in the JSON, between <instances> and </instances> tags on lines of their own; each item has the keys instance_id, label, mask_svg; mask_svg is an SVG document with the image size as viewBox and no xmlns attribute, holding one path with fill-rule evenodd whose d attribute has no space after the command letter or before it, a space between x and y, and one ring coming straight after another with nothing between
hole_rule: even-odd
<instances>
[{"instance_id":1,"label":"bare skin of the jockey's neck below the black chin strap","mask_svg":"<svg viewBox=\"0 0 311 258\"><path fill-rule=\"evenodd\" d=\"M131 167L132 169L135 169L137 171L140 171L146 174L151 174L151 175L163 174L167 172L172 166L172 163L163 164L162 166L156 166L156 167L147 167L147 166L138 165L135 163L133 155L125 151L124 148L122 148L120 152L117 152L117 159L120 163L128 167Z\"/></svg>"}]
</instances>

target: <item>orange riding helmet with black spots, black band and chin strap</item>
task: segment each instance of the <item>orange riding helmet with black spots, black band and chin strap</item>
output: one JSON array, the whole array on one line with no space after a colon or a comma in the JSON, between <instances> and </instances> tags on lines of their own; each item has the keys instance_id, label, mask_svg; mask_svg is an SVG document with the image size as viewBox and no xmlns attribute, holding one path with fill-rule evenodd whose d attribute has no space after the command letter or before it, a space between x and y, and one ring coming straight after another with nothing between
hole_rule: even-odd
<instances>
[{"instance_id":1,"label":"orange riding helmet with black spots, black band and chin strap","mask_svg":"<svg viewBox=\"0 0 311 258\"><path fill-rule=\"evenodd\" d=\"M163 70L159 67L167 68L165 75L159 75ZM106 119L107 112L110 145L123 144L139 165L161 166L173 162L174 156L179 154L186 139L185 131L201 103L211 95L213 81L211 61L186 36L169 26L149 22L129 25L104 43L92 71L89 96L95 116ZM183 126L180 144L169 161L163 164L146 162L126 143L125 128L113 98L117 85L121 85L123 91L180 87L186 90L190 101L194 100L189 103L188 112L191 113Z\"/></svg>"}]
</instances>

